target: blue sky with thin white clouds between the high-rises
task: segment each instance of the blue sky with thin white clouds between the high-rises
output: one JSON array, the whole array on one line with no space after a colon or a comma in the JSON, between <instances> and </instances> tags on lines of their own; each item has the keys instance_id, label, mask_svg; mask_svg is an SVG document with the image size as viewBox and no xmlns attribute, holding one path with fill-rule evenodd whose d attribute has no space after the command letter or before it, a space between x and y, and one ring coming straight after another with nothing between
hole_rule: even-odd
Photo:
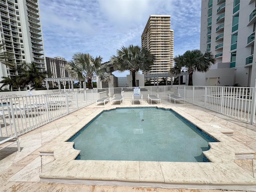
<instances>
[{"instance_id":1,"label":"blue sky with thin white clouds between the high-rises","mask_svg":"<svg viewBox=\"0 0 256 192\"><path fill-rule=\"evenodd\" d=\"M174 56L200 48L201 0L39 0L39 8L46 57L82 52L107 62L122 46L141 46L150 15L171 16Z\"/></svg>"}]
</instances>

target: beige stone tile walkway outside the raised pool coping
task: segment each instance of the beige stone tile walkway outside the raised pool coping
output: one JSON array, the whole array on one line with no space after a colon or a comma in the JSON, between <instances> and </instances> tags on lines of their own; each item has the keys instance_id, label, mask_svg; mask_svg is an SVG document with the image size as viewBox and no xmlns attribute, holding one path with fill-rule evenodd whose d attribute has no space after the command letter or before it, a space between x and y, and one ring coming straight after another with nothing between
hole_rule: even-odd
<instances>
[{"instance_id":1,"label":"beige stone tile walkway outside the raised pool coping","mask_svg":"<svg viewBox=\"0 0 256 192\"><path fill-rule=\"evenodd\" d=\"M154 102L153 102L154 103ZM119 104L113 106L120 106ZM55 120L45 126L42 126L32 132L20 136L21 152L17 152L14 145L0 150L0 191L88 191L88 192L142 192L142 191L166 191L166 192L187 192L209 190L186 190L186 189L164 189L164 188L143 188L134 186L97 186L80 184L57 184L49 182L40 182L40 175L45 172L52 162L56 159L54 156L40 156L40 151L45 150L47 146L58 145L54 143L58 138L72 132L72 129L82 128L84 121L90 121L98 112L112 108L111 103L106 106L92 104L86 108L78 110L68 116ZM122 107L133 106L131 101L125 101ZM200 120L204 124L216 124L233 130L233 134L228 136L235 142L242 144L252 151L256 151L256 126L240 122L238 120L217 114L191 104L183 102L169 103L162 101L162 104L150 105L143 101L142 105L134 106L167 106L176 111L188 114L186 117L190 121ZM253 159L234 159L234 163L239 166L243 176L248 176L250 180L256 178L256 155ZM224 176L225 177L225 176ZM180 188L183 188L182 186ZM186 185L184 184L184 188ZM252 190L251 188L248 188ZM246 189L245 189L246 190ZM256 191L256 188L255 188Z\"/></svg>"}]
</instances>

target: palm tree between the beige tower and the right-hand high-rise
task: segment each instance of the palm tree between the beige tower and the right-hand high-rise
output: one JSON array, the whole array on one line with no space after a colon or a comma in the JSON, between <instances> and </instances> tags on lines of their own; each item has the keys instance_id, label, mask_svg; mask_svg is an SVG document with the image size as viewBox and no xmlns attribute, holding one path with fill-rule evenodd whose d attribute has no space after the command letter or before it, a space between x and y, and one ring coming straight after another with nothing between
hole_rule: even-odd
<instances>
[{"instance_id":1,"label":"palm tree between the beige tower and the right-hand high-rise","mask_svg":"<svg viewBox=\"0 0 256 192\"><path fill-rule=\"evenodd\" d=\"M196 50L188 50L183 55L174 57L174 68L170 72L180 74L182 69L188 72L188 85L193 86L193 72L207 72L211 65L215 64L216 60L211 52L206 51L204 54Z\"/></svg>"}]
</instances>

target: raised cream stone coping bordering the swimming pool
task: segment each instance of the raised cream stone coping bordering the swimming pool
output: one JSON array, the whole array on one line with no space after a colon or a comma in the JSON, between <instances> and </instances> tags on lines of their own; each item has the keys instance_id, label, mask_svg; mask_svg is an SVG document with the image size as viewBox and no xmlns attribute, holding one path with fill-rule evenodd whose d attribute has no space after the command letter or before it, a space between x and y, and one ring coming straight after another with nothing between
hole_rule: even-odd
<instances>
[{"instance_id":1,"label":"raised cream stone coping bordering the swimming pool","mask_svg":"<svg viewBox=\"0 0 256 192\"><path fill-rule=\"evenodd\" d=\"M256 189L256 179L234 162L237 158L253 158L254 151L226 135L232 134L233 130L223 125L222 128L212 128L210 123L200 122L175 106L159 105L174 110L220 141L210 142L210 150L203 152L211 162L74 160L80 151L73 148L74 142L66 141L103 110L119 107L123 106L96 108L89 117L42 147L40 154L53 155L55 160L47 164L46 170L40 174L40 181L164 188Z\"/></svg>"}]
</instances>

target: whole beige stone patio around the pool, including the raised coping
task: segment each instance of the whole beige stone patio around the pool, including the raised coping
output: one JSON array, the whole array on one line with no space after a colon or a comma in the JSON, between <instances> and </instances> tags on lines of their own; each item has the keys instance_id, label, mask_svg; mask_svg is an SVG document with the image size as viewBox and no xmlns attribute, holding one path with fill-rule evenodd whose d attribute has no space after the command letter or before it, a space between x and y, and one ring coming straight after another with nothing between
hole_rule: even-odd
<instances>
[{"instance_id":1,"label":"whole beige stone patio around the pool, including the raised coping","mask_svg":"<svg viewBox=\"0 0 256 192\"><path fill-rule=\"evenodd\" d=\"M125 101L122 107L133 106L131 101ZM142 105L134 104L134 106L151 106L146 101L143 101ZM216 134L221 143L228 140L229 144L234 143L236 147L230 145L211 146L211 152L208 151L208 158L213 162L211 170L206 170L205 165L208 163L177 163L169 162L169 165L162 164L160 162L134 162L134 166L129 169L129 164L120 165L118 162L118 170L112 169L112 172L106 172L110 170L110 164L96 164L93 161L90 163L91 167L99 168L100 170L87 170L81 176L80 170L84 168L84 161L79 162L72 167L68 166L72 159L78 154L78 152L72 149L72 144L66 144L64 141L70 138L77 130L82 128L87 122L94 118L98 113L104 109L110 109L120 107L119 104L106 106L100 104L92 104L86 108L78 110L68 116L55 120L50 124L42 126L28 134L20 136L21 152L17 152L17 148L12 145L9 148L0 150L0 190L1 191L187 191L182 189L163 189L162 187L178 187L178 188L190 188L191 184L201 184L201 188L208 188L210 184L221 184L222 182L230 184L233 182L234 190L239 190L240 185L244 185L243 190L255 190L256 191L256 155L253 159L236 159L241 154L242 157L252 154L256 151L256 126L222 116L215 112L205 110L203 108L184 104L183 102L177 102L176 105L166 101L162 101L162 104L153 104L152 106L172 108L188 120L195 123L197 126L205 128L207 132ZM211 124L221 126L220 130L208 129ZM227 136L224 133L231 133ZM67 147L68 146L68 147ZM61 149L62 148L62 149ZM65 148L63 150L63 148ZM220 151L219 149L225 149L226 151ZM51 153L54 152L54 156L40 156L40 152ZM71 158L71 160L70 160ZM102 162L101 162L102 163ZM116 163L116 162L114 162ZM176 164L176 167L173 165ZM184 167L181 172L182 166L186 164L188 167ZM160 169L152 169L152 167L158 166ZM170 168L167 169L167 167ZM86 166L85 166L86 167ZM220 169L220 167L222 169ZM77 168L79 170L75 170ZM136 172L138 168L138 172ZM164 168L164 169L163 169ZM185 169L186 168L186 169ZM209 167L208 167L209 168ZM73 170L72 170L73 169ZM176 171L175 171L176 169ZM194 169L194 170L193 170ZM63 171L64 170L64 171ZM193 170L194 174L190 175L188 170ZM217 172L216 172L217 170ZM218 170L223 170L218 172ZM209 174L209 173L213 174ZM66 173L64 175L64 173ZM121 175L121 173L123 175ZM217 173L217 174L215 174ZM171 175L172 174L172 175ZM77 177L74 177L78 176ZM106 178L106 175L108 178ZM90 185L74 185L74 184L57 184L40 182L41 181L53 181L55 182L73 182L81 183L81 179L87 179L91 183ZM61 177L58 177L61 176ZM106 182L100 182L100 177L104 178ZM118 183L118 177L126 183L124 185L129 186L116 186ZM169 178L168 178L169 177ZM73 178L73 179L70 179ZM116 178L116 180L115 180ZM52 179L52 180L51 180ZM91 180L90 180L91 179ZM184 180L184 182L181 182ZM187 182L190 180L190 182ZM92 182L93 181L93 182ZM134 181L134 182L132 182ZM143 188L142 186L150 186L148 183L156 182L159 185L153 185L149 188ZM136 182L140 184L136 184ZM170 185L172 183L173 185ZM86 182L84 182L86 184ZM175 185L176 184L176 185ZM96 186L95 186L96 185ZM103 185L103 186L99 186ZM110 186L106 186L110 185ZM137 186L137 187L134 187ZM141 187L139 187L141 186ZM157 188L156 188L157 187ZM194 188L197 188L196 186ZM205 190L201 190L205 191Z\"/></svg>"}]
</instances>

